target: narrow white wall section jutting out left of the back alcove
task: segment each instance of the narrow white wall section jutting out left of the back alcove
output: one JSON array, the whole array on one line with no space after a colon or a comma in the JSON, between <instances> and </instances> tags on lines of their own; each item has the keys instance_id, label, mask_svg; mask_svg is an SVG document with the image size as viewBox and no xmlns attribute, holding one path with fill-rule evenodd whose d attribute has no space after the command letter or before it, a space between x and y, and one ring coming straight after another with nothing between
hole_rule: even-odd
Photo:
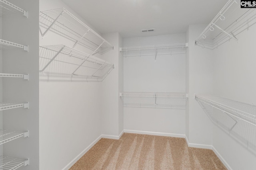
<instances>
[{"instance_id":1,"label":"narrow white wall section jutting out left of the back alcove","mask_svg":"<svg viewBox=\"0 0 256 170\"><path fill-rule=\"evenodd\" d=\"M115 64L115 68L102 82L102 134L117 138L122 131L123 121L122 106L118 97L122 90L122 58L119 54L122 39L119 33L104 34L104 37L114 46L114 50L103 54L102 59Z\"/></svg>"}]
</instances>

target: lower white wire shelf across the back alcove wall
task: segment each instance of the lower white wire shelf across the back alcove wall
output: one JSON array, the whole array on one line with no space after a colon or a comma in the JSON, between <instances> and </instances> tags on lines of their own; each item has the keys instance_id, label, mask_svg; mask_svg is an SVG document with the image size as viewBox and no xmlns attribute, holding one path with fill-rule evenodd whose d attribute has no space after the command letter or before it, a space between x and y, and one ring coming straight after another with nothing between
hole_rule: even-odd
<instances>
[{"instance_id":1,"label":"lower white wire shelf across the back alcove wall","mask_svg":"<svg viewBox=\"0 0 256 170\"><path fill-rule=\"evenodd\" d=\"M188 99L186 93L170 92L122 92L120 93L124 106L126 107L185 107Z\"/></svg>"}]
</instances>

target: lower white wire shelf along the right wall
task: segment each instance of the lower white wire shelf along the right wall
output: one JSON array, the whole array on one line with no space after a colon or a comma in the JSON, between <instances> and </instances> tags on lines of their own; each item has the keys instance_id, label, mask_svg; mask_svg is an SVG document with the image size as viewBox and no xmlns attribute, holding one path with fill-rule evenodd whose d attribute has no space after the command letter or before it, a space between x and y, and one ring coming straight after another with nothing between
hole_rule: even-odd
<instances>
[{"instance_id":1,"label":"lower white wire shelf along the right wall","mask_svg":"<svg viewBox=\"0 0 256 170\"><path fill-rule=\"evenodd\" d=\"M217 96L198 96L195 99L227 113L238 120L256 126L256 106Z\"/></svg>"}]
</instances>

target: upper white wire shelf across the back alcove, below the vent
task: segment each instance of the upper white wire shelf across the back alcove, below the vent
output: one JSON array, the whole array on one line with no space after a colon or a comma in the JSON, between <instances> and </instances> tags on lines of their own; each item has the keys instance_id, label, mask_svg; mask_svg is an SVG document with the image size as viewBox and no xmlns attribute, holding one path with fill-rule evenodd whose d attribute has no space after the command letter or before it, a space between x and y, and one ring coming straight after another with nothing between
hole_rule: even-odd
<instances>
[{"instance_id":1,"label":"upper white wire shelf across the back alcove, below the vent","mask_svg":"<svg viewBox=\"0 0 256 170\"><path fill-rule=\"evenodd\" d=\"M119 51L124 57L145 56L145 55L167 55L186 53L188 43L146 45L137 47L121 47Z\"/></svg>"}]
</instances>

